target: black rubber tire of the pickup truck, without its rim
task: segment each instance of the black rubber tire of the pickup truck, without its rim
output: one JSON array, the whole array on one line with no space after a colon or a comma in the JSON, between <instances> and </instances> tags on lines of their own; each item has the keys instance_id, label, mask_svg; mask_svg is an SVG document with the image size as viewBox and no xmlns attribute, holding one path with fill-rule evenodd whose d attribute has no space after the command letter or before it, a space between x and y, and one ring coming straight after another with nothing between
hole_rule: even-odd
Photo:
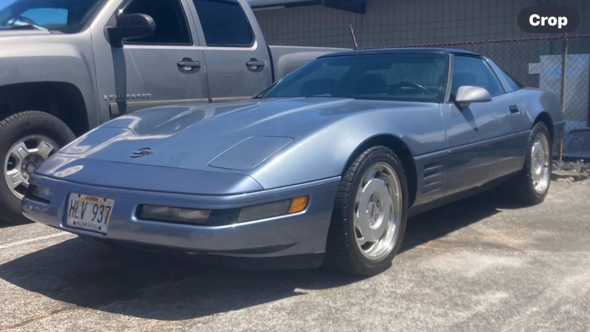
<instances>
[{"instance_id":1,"label":"black rubber tire of the pickup truck, without its rim","mask_svg":"<svg viewBox=\"0 0 590 332\"><path fill-rule=\"evenodd\" d=\"M11 147L23 137L42 134L64 146L76 136L67 124L57 117L41 111L24 111L12 114L0 121L0 160L3 175L6 172L6 155ZM8 188L4 176L0 181L0 220L10 223L30 222L21 213L21 200Z\"/></svg>"}]
</instances>

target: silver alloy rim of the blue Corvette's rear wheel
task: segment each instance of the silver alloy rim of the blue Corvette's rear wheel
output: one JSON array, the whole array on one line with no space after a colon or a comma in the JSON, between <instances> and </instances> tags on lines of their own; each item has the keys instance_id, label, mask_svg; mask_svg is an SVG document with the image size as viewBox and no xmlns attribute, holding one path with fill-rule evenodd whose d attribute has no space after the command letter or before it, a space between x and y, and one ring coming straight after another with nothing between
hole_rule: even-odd
<instances>
[{"instance_id":1,"label":"silver alloy rim of the blue Corvette's rear wheel","mask_svg":"<svg viewBox=\"0 0 590 332\"><path fill-rule=\"evenodd\" d=\"M530 173L535 192L542 194L549 186L549 163L551 162L549 139L543 133L537 134L530 151Z\"/></svg>"}]
</instances>

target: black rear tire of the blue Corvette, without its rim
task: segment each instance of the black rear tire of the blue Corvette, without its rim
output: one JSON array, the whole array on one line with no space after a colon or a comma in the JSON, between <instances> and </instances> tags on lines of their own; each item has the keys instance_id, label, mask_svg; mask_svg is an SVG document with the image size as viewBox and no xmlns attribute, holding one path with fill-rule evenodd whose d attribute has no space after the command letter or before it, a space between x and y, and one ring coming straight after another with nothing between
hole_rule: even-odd
<instances>
[{"instance_id":1,"label":"black rear tire of the blue Corvette, without its rim","mask_svg":"<svg viewBox=\"0 0 590 332\"><path fill-rule=\"evenodd\" d=\"M549 142L549 182L543 192L537 192L533 183L531 163L532 160L532 148L537 136L545 135ZM552 169L552 142L549 134L549 129L545 123L537 123L533 126L533 129L529 135L529 144L526 150L525 166L520 172L512 179L508 180L501 186L501 191L510 199L510 202L516 203L517 205L536 205L542 203L549 192L549 186L551 184L550 174Z\"/></svg>"}]
</instances>

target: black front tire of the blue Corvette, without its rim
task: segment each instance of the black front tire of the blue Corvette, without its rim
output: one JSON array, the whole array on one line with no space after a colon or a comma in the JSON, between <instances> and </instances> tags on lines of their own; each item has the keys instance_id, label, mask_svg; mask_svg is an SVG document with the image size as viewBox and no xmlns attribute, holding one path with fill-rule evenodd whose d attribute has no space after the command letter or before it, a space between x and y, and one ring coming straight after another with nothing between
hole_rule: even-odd
<instances>
[{"instance_id":1,"label":"black front tire of the blue Corvette, without its rim","mask_svg":"<svg viewBox=\"0 0 590 332\"><path fill-rule=\"evenodd\" d=\"M402 214L392 251L381 259L371 260L362 254L356 243L353 214L355 213L356 192L362 182L362 177L369 167L378 162L391 165L398 176L402 193ZM347 274L363 276L376 275L385 271L391 266L392 259L399 251L407 218L408 185L404 167L398 156L385 146L375 146L365 150L350 164L340 181L327 238L324 265Z\"/></svg>"}]
</instances>

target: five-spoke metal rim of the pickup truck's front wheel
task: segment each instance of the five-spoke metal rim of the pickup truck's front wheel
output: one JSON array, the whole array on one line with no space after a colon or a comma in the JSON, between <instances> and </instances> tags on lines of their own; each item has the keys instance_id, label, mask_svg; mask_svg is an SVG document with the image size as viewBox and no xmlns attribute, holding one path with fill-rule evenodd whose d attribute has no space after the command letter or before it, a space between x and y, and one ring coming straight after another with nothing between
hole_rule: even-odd
<instances>
[{"instance_id":1,"label":"five-spoke metal rim of the pickup truck's front wheel","mask_svg":"<svg viewBox=\"0 0 590 332\"><path fill-rule=\"evenodd\" d=\"M24 197L31 174L59 148L53 139L35 134L25 136L8 150L4 161L4 179L14 196L18 199Z\"/></svg>"}]
</instances>

